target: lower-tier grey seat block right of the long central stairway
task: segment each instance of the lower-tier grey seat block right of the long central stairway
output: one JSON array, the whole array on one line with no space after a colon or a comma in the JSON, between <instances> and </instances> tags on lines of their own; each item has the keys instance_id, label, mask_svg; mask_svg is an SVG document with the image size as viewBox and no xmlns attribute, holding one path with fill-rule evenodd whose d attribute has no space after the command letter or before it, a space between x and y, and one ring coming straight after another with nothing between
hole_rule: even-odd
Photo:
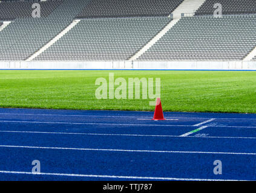
<instances>
[{"instance_id":1,"label":"lower-tier grey seat block right of the long central stairway","mask_svg":"<svg viewBox=\"0 0 256 193\"><path fill-rule=\"evenodd\" d=\"M138 60L242 60L255 37L256 15L183 17Z\"/></svg>"}]
</instances>

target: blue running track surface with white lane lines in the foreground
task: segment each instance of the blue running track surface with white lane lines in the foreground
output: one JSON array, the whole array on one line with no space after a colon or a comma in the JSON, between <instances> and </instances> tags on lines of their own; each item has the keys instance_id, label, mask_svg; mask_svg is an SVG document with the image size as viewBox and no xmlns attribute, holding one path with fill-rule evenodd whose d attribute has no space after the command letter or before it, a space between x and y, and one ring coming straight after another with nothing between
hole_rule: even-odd
<instances>
[{"instance_id":1,"label":"blue running track surface with white lane lines in the foreground","mask_svg":"<svg viewBox=\"0 0 256 193\"><path fill-rule=\"evenodd\" d=\"M256 180L256 115L152 117L0 109L0 180ZM33 160L41 174L31 172ZM222 175L214 174L214 160L222 161Z\"/></svg>"}]
</instances>

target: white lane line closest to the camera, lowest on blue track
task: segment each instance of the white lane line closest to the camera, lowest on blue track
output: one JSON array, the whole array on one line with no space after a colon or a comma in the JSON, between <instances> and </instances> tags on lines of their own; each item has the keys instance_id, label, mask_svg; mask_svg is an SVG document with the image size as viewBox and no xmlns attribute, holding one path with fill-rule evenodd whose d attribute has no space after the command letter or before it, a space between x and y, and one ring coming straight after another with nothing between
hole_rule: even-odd
<instances>
[{"instance_id":1,"label":"white lane line closest to the camera, lowest on blue track","mask_svg":"<svg viewBox=\"0 0 256 193\"><path fill-rule=\"evenodd\" d=\"M68 177L92 177L92 178L109 178L109 179L140 179L140 180L183 180L183 181L243 181L228 179L182 179L174 177L142 177L142 176L109 176L109 175L92 175L92 174L63 174L63 173L33 173L25 171L0 171L2 174L28 174L42 176L68 176Z\"/></svg>"}]
</instances>

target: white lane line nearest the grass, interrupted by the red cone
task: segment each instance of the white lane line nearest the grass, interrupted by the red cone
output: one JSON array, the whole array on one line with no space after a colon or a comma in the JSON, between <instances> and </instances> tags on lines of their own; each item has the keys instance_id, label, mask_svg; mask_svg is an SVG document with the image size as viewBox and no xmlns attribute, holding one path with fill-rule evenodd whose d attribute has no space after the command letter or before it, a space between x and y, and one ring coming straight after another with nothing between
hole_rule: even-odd
<instances>
[{"instance_id":1,"label":"white lane line nearest the grass, interrupted by the red cone","mask_svg":"<svg viewBox=\"0 0 256 193\"><path fill-rule=\"evenodd\" d=\"M31 115L31 116L85 116L85 117L117 117L117 118L146 118L150 119L151 116L116 116L116 115L61 115L61 114L31 114L31 113L0 113L0 115ZM205 117L166 117L166 119L211 119ZM256 120L250 118L215 118L215 119L235 119L235 120Z\"/></svg>"}]
</instances>

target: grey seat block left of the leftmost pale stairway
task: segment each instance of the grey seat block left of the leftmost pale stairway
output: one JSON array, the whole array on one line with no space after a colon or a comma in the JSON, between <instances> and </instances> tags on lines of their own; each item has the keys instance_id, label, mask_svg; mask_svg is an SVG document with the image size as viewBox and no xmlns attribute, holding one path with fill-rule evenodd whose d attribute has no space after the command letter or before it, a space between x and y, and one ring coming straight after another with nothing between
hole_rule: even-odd
<instances>
[{"instance_id":1,"label":"grey seat block left of the leftmost pale stairway","mask_svg":"<svg viewBox=\"0 0 256 193\"><path fill-rule=\"evenodd\" d=\"M46 18L23 18L0 33L0 60L26 60L71 24L90 0L64 1Z\"/></svg>"}]
</instances>

